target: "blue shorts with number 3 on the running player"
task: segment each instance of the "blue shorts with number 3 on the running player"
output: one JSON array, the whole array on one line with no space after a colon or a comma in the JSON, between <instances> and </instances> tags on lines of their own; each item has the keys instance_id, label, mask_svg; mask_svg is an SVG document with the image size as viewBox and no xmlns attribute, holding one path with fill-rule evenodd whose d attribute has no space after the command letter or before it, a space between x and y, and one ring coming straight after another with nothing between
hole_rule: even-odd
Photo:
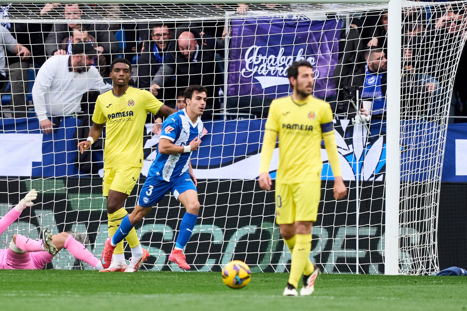
<instances>
[{"instance_id":1,"label":"blue shorts with number 3 on the running player","mask_svg":"<svg viewBox=\"0 0 467 311\"><path fill-rule=\"evenodd\" d=\"M167 191L172 192L174 197L178 199L180 194L190 189L196 191L195 184L188 172L173 178L170 182L148 176L141 189L138 205L152 207L162 200Z\"/></svg>"}]
</instances>

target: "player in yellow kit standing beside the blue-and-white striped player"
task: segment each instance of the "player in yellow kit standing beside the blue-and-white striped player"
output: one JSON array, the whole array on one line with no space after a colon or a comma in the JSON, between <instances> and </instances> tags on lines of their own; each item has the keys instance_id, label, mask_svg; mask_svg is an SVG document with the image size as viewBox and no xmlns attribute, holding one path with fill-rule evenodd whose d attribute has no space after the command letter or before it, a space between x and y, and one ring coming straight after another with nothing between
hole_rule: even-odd
<instances>
[{"instance_id":1,"label":"player in yellow kit standing beside the blue-and-white striped player","mask_svg":"<svg viewBox=\"0 0 467 311\"><path fill-rule=\"evenodd\" d=\"M104 145L104 178L102 194L107 197L109 235L117 231L121 220L128 214L123 205L138 181L143 167L143 134L148 112L168 117L177 112L164 106L154 95L128 85L131 63L124 58L110 65L113 89L99 95L92 114L94 124L86 141L78 143L81 153L91 147L102 134L106 124ZM112 262L101 258L102 271L137 271L147 260L148 251L142 249L136 231L126 240L131 249L130 264L126 266L123 241L115 248Z\"/></svg>"}]
</instances>

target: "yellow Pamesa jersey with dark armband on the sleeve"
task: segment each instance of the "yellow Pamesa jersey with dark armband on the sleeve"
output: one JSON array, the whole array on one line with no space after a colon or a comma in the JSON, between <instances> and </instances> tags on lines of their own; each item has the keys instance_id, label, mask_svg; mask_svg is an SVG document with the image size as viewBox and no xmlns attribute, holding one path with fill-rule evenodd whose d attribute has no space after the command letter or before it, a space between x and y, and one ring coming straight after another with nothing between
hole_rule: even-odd
<instances>
[{"instance_id":1,"label":"yellow Pamesa jersey with dark armband on the sleeve","mask_svg":"<svg viewBox=\"0 0 467 311\"><path fill-rule=\"evenodd\" d=\"M331 106L309 96L297 102L291 96L272 101L265 128L279 134L276 182L295 184L319 181L322 134L333 131Z\"/></svg>"}]
</instances>

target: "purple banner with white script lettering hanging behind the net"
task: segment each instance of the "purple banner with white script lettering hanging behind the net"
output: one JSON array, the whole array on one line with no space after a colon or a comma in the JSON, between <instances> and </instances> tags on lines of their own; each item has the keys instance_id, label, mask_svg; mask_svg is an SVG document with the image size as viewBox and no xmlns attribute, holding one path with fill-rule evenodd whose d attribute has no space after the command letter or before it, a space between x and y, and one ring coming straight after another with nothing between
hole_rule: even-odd
<instances>
[{"instance_id":1,"label":"purple banner with white script lettering hanging behind the net","mask_svg":"<svg viewBox=\"0 0 467 311\"><path fill-rule=\"evenodd\" d=\"M314 67L316 97L336 95L333 71L338 62L340 20L248 18L231 21L228 96L291 92L287 68L298 60Z\"/></svg>"}]
</instances>

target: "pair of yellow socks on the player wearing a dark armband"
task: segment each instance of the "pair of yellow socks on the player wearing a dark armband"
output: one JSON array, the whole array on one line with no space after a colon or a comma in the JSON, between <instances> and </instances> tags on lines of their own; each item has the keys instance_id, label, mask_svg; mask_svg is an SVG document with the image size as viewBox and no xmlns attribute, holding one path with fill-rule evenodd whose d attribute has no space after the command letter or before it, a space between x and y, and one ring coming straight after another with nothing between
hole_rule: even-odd
<instances>
[{"instance_id":1,"label":"pair of yellow socks on the player wearing a dark armband","mask_svg":"<svg viewBox=\"0 0 467 311\"><path fill-rule=\"evenodd\" d=\"M292 253L289 283L298 288L302 274L309 275L314 271L314 266L308 259L311 251L311 234L296 234L285 242Z\"/></svg>"}]
</instances>

